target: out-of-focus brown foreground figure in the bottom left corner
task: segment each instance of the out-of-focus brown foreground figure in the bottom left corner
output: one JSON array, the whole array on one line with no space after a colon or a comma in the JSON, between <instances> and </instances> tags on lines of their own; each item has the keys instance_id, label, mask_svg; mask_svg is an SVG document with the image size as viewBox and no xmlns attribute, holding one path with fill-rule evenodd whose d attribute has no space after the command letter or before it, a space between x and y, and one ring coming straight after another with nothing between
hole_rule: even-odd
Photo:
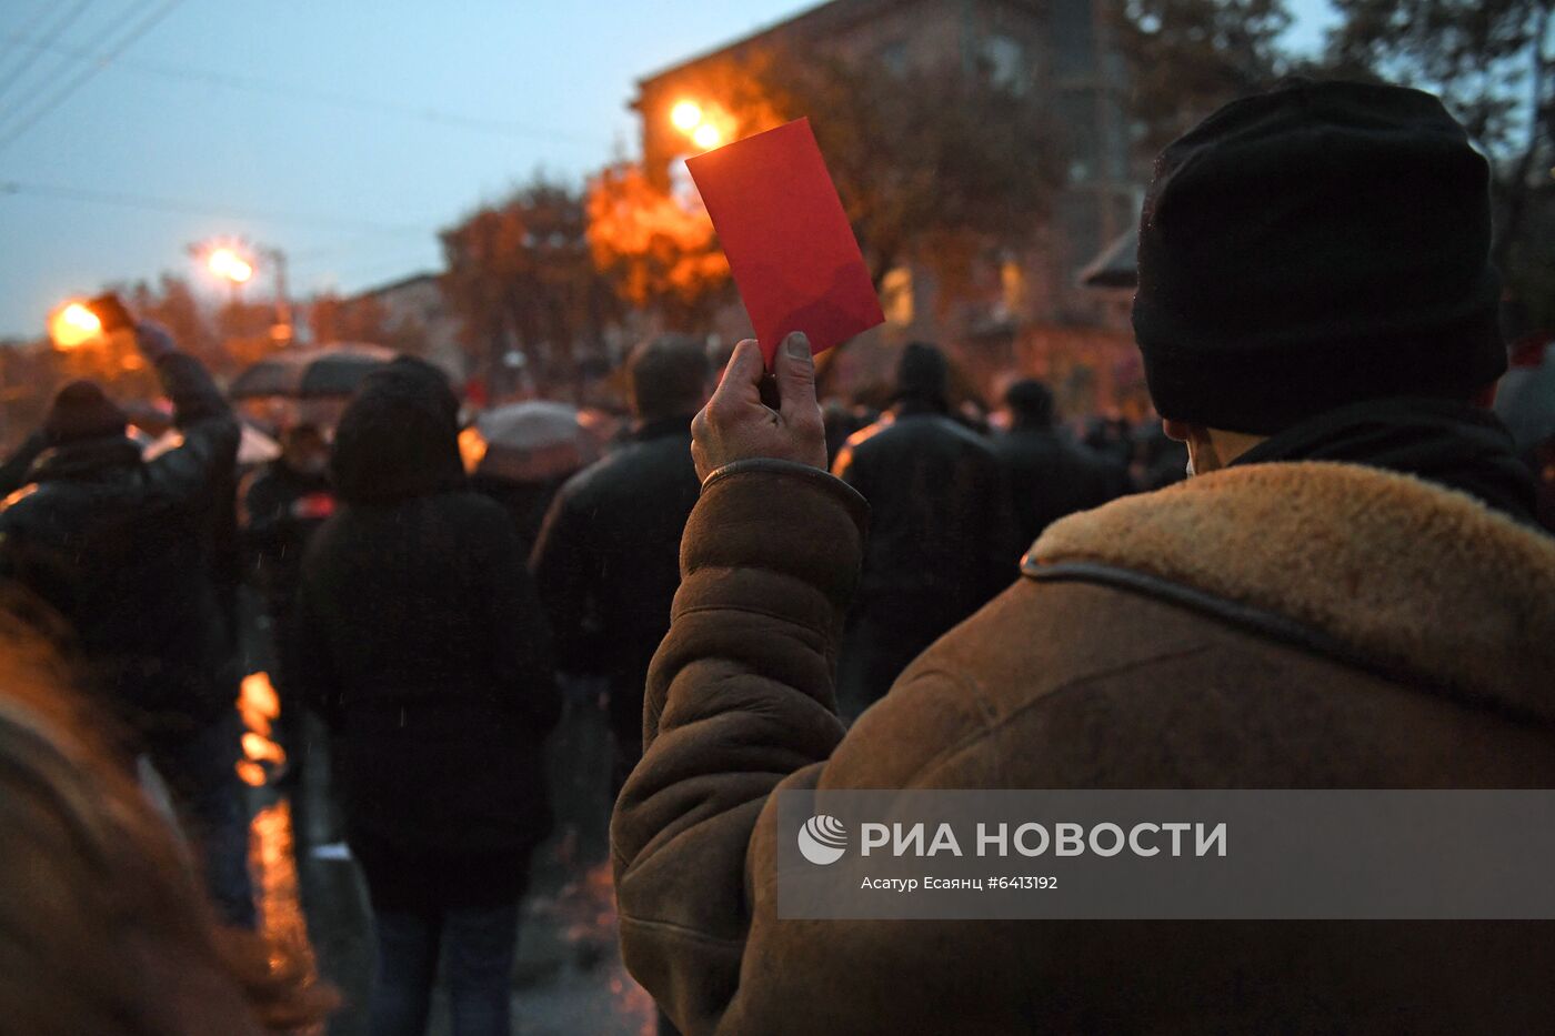
<instances>
[{"instance_id":1,"label":"out-of-focus brown foreground figure in the bottom left corner","mask_svg":"<svg viewBox=\"0 0 1555 1036\"><path fill-rule=\"evenodd\" d=\"M292 1033L336 997L216 924L45 642L0 614L0 1017L28 1036Z\"/></svg>"}]
</instances>

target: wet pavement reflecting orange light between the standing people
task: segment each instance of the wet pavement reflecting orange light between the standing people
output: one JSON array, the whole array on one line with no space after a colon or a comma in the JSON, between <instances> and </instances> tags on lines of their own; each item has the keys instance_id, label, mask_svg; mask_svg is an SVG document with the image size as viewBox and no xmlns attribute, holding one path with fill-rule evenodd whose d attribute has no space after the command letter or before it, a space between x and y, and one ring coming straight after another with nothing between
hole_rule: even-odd
<instances>
[{"instance_id":1,"label":"wet pavement reflecting orange light between the standing people","mask_svg":"<svg viewBox=\"0 0 1555 1036\"><path fill-rule=\"evenodd\" d=\"M320 734L314 725L309 744L319 745ZM597 695L574 689L547 756L557 831L532 865L513 971L513 1030L652 1036L653 1000L627 974L616 941L606 862L610 734ZM305 800L299 817L306 817L309 852L294 851L288 798L269 787L252 792L250 865L264 932L280 952L311 961L345 1000L330 1019L328 1036L361 1036L372 988L372 921L361 873L337 851L325 770L322 753L311 751L295 792ZM448 1033L442 994L434 999L428 1031Z\"/></svg>"}]
</instances>

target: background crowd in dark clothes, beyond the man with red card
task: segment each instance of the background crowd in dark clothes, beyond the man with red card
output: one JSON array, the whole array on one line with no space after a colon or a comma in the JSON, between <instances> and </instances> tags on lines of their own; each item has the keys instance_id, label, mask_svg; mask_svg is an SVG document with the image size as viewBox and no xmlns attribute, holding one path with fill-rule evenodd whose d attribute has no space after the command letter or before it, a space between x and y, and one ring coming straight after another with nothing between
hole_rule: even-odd
<instances>
[{"instance_id":1,"label":"background crowd in dark clothes, beyond the man with red card","mask_svg":"<svg viewBox=\"0 0 1555 1036\"><path fill-rule=\"evenodd\" d=\"M123 775L151 762L221 919L252 929L243 635L222 549L236 543L274 639L278 784L299 843L309 711L330 731L328 776L373 907L372 1031L425 1031L440 960L457 1031L504 1031L518 905L552 824L541 750L557 674L605 681L619 792L642 756L644 686L701 492L690 429L722 375L715 350L669 334L631 353L630 432L555 488L529 543L468 478L460 401L439 369L386 364L336 428L286 426L280 454L239 479L239 418L216 384L157 325L134 334L179 443L146 459L101 386L62 387L5 464L8 585L58 619ZM944 353L914 342L885 414L844 411L857 431L835 471L869 495L875 523L840 655L849 717L1012 583L1042 527L1134 488L1121 459L1056 426L1042 383L1011 386L1008 432L969 426L947 386Z\"/></svg>"}]
</instances>

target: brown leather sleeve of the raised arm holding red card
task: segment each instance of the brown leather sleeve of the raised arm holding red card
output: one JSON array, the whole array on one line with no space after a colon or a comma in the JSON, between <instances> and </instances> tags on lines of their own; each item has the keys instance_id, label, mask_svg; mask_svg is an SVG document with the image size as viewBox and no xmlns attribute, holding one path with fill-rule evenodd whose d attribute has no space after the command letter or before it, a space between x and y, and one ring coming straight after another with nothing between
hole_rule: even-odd
<instances>
[{"instance_id":1,"label":"brown leather sleeve of the raised arm holding red card","mask_svg":"<svg viewBox=\"0 0 1555 1036\"><path fill-rule=\"evenodd\" d=\"M748 460L708 478L686 524L611 823L627 964L686 1031L714 1030L739 988L768 795L843 737L832 674L866 523L830 474Z\"/></svg>"}]
</instances>

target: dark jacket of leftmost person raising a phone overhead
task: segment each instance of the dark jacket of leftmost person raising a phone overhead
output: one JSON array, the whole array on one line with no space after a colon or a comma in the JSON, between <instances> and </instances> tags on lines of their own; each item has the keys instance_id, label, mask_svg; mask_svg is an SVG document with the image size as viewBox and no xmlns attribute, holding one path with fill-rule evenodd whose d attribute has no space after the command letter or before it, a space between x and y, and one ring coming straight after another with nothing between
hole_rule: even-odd
<instances>
[{"instance_id":1,"label":"dark jacket of leftmost person raising a phone overhead","mask_svg":"<svg viewBox=\"0 0 1555 1036\"><path fill-rule=\"evenodd\" d=\"M238 423L191 356L156 369L182 445L149 462L124 436L40 453L0 510L0 569L64 618L89 686L132 728L177 736L238 691L210 571Z\"/></svg>"}]
</instances>

